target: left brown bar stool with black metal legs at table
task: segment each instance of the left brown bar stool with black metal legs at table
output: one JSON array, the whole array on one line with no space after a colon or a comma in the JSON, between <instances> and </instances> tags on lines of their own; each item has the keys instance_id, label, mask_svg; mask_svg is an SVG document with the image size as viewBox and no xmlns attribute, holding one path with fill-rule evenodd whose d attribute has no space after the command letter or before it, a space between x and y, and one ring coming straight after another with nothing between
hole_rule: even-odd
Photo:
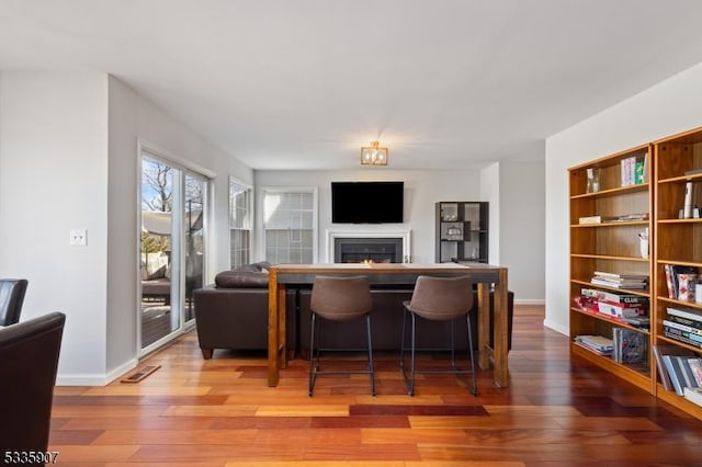
<instances>
[{"instance_id":1,"label":"left brown bar stool with black metal legs at table","mask_svg":"<svg viewBox=\"0 0 702 467\"><path fill-rule=\"evenodd\" d=\"M318 375L329 374L367 374L371 378L371 394L375 396L375 378L373 373L373 348L371 344L371 288L365 276L317 276L313 283L309 309L312 311L312 337L309 342L309 397L315 390ZM320 322L317 317L333 321L348 321L365 317L369 365L365 371L320 371L318 340ZM321 320L319 320L321 321ZM332 351L333 349L325 349Z\"/></svg>"}]
</instances>

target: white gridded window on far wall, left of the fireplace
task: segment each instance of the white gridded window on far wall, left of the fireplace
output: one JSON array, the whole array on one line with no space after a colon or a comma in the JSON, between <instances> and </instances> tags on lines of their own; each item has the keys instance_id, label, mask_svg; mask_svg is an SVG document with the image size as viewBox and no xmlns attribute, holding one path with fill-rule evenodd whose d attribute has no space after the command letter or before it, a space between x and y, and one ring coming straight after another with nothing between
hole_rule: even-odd
<instances>
[{"instance_id":1,"label":"white gridded window on far wall, left of the fireplace","mask_svg":"<svg viewBox=\"0 0 702 467\"><path fill-rule=\"evenodd\" d=\"M273 264L317 261L317 189L264 189L263 241Z\"/></svg>"}]
</instances>

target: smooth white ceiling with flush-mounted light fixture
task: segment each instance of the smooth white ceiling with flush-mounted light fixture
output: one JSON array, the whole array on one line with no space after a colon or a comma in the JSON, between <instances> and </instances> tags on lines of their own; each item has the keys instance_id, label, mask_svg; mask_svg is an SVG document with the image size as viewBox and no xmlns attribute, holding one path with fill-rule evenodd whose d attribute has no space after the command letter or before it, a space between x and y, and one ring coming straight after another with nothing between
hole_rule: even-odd
<instances>
[{"instance_id":1,"label":"smooth white ceiling with flush-mounted light fixture","mask_svg":"<svg viewBox=\"0 0 702 467\"><path fill-rule=\"evenodd\" d=\"M698 0L0 0L0 70L111 73L256 169L543 157L702 62ZM655 111L655 110L653 110Z\"/></svg>"}]
</instances>

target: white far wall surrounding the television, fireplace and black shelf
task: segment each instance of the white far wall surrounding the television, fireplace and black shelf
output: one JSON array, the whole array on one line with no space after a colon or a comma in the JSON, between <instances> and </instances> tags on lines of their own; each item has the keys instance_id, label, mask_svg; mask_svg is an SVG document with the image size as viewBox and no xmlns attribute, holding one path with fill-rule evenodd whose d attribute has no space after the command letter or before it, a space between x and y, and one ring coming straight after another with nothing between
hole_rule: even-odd
<instances>
[{"instance_id":1,"label":"white far wall surrounding the television, fireplace and black shelf","mask_svg":"<svg viewBox=\"0 0 702 467\"><path fill-rule=\"evenodd\" d=\"M490 262L509 267L509 287L517 303L544 301L544 162L502 161L473 170L257 171L256 186L317 186L319 193L319 261L326 261L326 231L331 224L332 181L396 180L405 182L405 224L411 230L412 262L435 260L435 210L440 201L490 202ZM257 191L256 218L261 220ZM502 228L500 228L502 226ZM343 225L347 230L397 229L398 225ZM263 259L257 243L254 258Z\"/></svg>"}]
</instances>

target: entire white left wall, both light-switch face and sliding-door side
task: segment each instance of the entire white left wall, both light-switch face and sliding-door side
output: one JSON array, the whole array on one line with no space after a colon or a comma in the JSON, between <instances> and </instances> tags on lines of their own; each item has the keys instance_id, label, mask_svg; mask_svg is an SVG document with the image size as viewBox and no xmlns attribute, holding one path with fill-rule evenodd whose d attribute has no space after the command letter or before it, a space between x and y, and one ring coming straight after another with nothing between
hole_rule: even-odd
<instances>
[{"instance_id":1,"label":"entire white left wall, both light-switch face and sliding-door side","mask_svg":"<svg viewBox=\"0 0 702 467\"><path fill-rule=\"evenodd\" d=\"M250 169L106 75L0 72L0 276L30 280L23 319L67 314L59 384L136 364L138 138L214 175L212 278L229 264L228 176Z\"/></svg>"}]
</instances>

